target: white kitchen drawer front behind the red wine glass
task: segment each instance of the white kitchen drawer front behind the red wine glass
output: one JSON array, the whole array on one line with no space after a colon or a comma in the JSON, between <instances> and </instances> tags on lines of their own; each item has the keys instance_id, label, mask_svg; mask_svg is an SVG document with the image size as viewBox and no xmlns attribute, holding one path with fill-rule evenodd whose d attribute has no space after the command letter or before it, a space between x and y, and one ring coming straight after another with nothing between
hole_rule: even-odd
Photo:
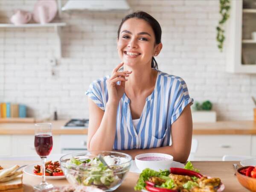
<instances>
[{"instance_id":1,"label":"white kitchen drawer front behind the red wine glass","mask_svg":"<svg viewBox=\"0 0 256 192\"><path fill-rule=\"evenodd\" d=\"M53 147L51 154L60 154L60 136L52 136ZM12 136L12 156L38 155L34 146L34 135L13 135Z\"/></svg>"}]
</instances>

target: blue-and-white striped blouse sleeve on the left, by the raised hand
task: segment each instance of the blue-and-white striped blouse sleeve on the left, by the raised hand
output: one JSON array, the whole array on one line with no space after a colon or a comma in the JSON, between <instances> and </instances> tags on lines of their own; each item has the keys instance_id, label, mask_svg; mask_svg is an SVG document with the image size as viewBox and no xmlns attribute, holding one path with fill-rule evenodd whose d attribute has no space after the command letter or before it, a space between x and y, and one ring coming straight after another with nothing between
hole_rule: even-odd
<instances>
[{"instance_id":1,"label":"blue-and-white striped blouse sleeve on the left, by the raised hand","mask_svg":"<svg viewBox=\"0 0 256 192\"><path fill-rule=\"evenodd\" d=\"M100 81L93 81L90 84L89 89L85 91L85 95L89 96L90 99L92 99L93 102L96 105L98 105L99 108L105 111L103 97L102 97L102 87L101 87Z\"/></svg>"}]
</instances>

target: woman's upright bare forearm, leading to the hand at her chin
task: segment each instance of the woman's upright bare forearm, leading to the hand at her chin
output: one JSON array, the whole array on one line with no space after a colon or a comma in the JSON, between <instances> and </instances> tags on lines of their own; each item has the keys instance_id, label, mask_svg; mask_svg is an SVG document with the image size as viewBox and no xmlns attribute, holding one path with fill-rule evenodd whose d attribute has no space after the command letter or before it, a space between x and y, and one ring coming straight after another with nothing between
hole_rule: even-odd
<instances>
[{"instance_id":1,"label":"woman's upright bare forearm, leading to the hand at her chin","mask_svg":"<svg viewBox=\"0 0 256 192\"><path fill-rule=\"evenodd\" d=\"M107 103L102 122L90 140L90 151L112 151L116 135L116 103Z\"/></svg>"}]
</instances>

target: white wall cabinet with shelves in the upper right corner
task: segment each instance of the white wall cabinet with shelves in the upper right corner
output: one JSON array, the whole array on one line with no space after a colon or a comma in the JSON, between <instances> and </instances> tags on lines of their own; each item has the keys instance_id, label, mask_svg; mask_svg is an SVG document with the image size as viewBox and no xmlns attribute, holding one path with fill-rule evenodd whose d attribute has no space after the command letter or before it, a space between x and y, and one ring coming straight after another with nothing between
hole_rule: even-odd
<instances>
[{"instance_id":1,"label":"white wall cabinet with shelves in the upper right corner","mask_svg":"<svg viewBox=\"0 0 256 192\"><path fill-rule=\"evenodd\" d=\"M243 0L233 0L230 3L230 18L227 20L227 33L224 34L227 38L224 43L227 72L256 73L256 40L251 39L251 34L247 34L256 31L249 29L253 27L250 23L255 22L256 9L243 9Z\"/></svg>"}]
</instances>

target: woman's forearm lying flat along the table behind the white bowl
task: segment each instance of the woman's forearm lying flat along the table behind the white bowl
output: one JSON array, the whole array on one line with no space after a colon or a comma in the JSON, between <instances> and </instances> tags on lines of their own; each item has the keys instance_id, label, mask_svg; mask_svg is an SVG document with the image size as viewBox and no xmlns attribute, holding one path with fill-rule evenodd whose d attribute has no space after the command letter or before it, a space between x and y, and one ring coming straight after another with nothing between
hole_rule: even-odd
<instances>
[{"instance_id":1,"label":"woman's forearm lying flat along the table behind the white bowl","mask_svg":"<svg viewBox=\"0 0 256 192\"><path fill-rule=\"evenodd\" d=\"M178 161L180 163L185 163L189 157L189 154L183 153L182 151L176 151L173 146L165 146L165 147L157 147L157 148L149 148L149 149L132 149L132 150L117 150L118 152L127 153L134 157L138 154L142 153L164 153L170 154L173 156L174 161Z\"/></svg>"}]
</instances>

